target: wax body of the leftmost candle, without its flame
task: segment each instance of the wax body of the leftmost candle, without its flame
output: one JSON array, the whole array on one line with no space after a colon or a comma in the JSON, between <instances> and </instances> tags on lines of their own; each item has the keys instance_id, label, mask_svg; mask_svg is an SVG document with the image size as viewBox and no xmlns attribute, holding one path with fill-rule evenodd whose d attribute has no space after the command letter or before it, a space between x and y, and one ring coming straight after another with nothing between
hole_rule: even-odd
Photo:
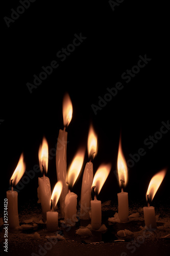
<instances>
[{"instance_id":1,"label":"wax body of the leftmost candle, without its flame","mask_svg":"<svg viewBox=\"0 0 170 256\"><path fill-rule=\"evenodd\" d=\"M15 229L19 226L19 218L18 218L18 193L17 191L7 191L7 199L8 199L8 224L9 229Z\"/></svg>"}]
</instances>

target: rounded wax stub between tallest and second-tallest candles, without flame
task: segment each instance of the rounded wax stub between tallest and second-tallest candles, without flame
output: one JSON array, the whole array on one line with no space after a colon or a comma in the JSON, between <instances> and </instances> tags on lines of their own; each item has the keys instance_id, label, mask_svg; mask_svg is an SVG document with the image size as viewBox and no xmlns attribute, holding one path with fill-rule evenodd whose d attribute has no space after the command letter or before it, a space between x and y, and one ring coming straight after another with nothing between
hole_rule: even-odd
<instances>
[{"instance_id":1,"label":"rounded wax stub between tallest and second-tallest candles, without flame","mask_svg":"<svg viewBox=\"0 0 170 256\"><path fill-rule=\"evenodd\" d=\"M64 221L66 224L69 224L70 226L74 226L77 218L76 218L76 212L77 212L77 195L73 192L68 192L68 194L65 197L65 218Z\"/></svg>"}]
</instances>

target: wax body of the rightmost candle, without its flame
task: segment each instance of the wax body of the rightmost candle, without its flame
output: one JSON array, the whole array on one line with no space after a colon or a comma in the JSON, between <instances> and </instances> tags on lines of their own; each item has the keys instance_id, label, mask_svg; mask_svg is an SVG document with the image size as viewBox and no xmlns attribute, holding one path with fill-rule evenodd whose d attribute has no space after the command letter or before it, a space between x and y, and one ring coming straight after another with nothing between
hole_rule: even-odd
<instances>
[{"instance_id":1,"label":"wax body of the rightmost candle, without its flame","mask_svg":"<svg viewBox=\"0 0 170 256\"><path fill-rule=\"evenodd\" d=\"M143 213L147 229L156 229L155 208L153 206L143 207Z\"/></svg>"}]
</instances>

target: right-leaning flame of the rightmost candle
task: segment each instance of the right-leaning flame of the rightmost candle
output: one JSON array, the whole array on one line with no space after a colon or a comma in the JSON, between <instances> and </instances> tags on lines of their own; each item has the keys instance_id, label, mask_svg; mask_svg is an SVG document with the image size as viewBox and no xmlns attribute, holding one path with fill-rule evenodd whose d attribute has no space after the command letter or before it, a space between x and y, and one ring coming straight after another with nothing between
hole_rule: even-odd
<instances>
[{"instance_id":1,"label":"right-leaning flame of the rightmost candle","mask_svg":"<svg viewBox=\"0 0 170 256\"><path fill-rule=\"evenodd\" d=\"M156 191L158 190L160 184L162 183L162 180L165 177L165 174L166 174L166 170L164 169L152 177L149 187L148 187L148 190L147 190L147 195L149 195L150 201L153 200L153 198L156 194Z\"/></svg>"}]
</instances>

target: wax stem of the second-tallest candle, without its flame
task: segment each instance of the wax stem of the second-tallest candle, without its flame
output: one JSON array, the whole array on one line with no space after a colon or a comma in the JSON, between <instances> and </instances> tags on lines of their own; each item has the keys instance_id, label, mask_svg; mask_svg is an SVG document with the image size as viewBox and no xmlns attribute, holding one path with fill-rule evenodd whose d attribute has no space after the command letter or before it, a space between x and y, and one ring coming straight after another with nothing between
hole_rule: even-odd
<instances>
[{"instance_id":1,"label":"wax stem of the second-tallest candle, without its flame","mask_svg":"<svg viewBox=\"0 0 170 256\"><path fill-rule=\"evenodd\" d=\"M89 210L91 207L91 185L93 182L93 164L86 163L81 190L80 219L89 220Z\"/></svg>"}]
</instances>

